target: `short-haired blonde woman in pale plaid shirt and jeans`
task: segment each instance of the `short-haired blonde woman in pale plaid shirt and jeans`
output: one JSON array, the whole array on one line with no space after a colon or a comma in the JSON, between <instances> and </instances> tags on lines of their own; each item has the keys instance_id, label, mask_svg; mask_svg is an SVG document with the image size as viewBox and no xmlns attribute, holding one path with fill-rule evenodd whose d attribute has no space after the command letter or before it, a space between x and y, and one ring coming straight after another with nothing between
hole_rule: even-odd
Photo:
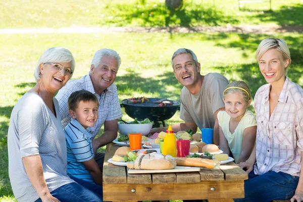
<instances>
[{"instance_id":1,"label":"short-haired blonde woman in pale plaid shirt and jeans","mask_svg":"<svg viewBox=\"0 0 303 202\"><path fill-rule=\"evenodd\" d=\"M257 59L268 84L255 96L257 141L249 159L239 164L249 179L245 198L235 201L302 201L303 89L285 76L291 59L283 39L261 41Z\"/></svg>"}]
</instances>

